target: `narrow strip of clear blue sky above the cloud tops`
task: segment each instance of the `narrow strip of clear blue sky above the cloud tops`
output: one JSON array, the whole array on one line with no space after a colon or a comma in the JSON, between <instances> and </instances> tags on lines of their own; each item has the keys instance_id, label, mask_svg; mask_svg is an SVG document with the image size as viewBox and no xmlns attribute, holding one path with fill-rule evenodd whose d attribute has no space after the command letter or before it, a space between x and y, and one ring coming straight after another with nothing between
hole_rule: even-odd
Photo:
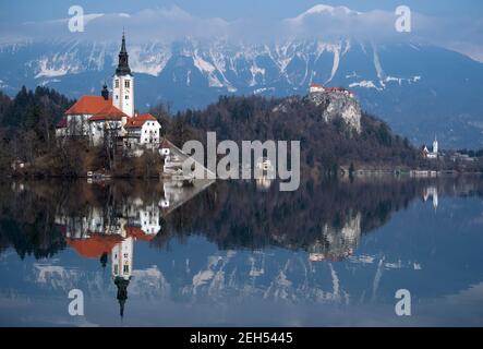
<instances>
[{"instance_id":1,"label":"narrow strip of clear blue sky above the cloud tops","mask_svg":"<svg viewBox=\"0 0 483 349\"><path fill-rule=\"evenodd\" d=\"M407 4L416 12L434 16L481 17L483 13L481 0L2 0L0 20L9 23L51 20L65 16L72 4L85 7L88 12L102 13L135 12L174 4L196 16L219 16L230 21L239 17L285 19L318 3L346 5L358 11L394 11L397 5Z\"/></svg>"}]
</instances>

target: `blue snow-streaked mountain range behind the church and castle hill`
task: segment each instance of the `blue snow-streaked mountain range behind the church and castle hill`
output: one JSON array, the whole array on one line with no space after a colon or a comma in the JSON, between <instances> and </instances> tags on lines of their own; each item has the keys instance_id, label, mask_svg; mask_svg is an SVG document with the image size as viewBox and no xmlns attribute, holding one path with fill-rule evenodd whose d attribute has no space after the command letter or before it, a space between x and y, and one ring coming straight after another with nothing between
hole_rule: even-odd
<instances>
[{"instance_id":1,"label":"blue snow-streaked mountain range behind the church and castle hill","mask_svg":"<svg viewBox=\"0 0 483 349\"><path fill-rule=\"evenodd\" d=\"M286 27L323 17L363 13L317 5L285 21ZM0 46L0 88L47 85L71 97L110 84L119 39L24 40ZM390 43L390 44L388 44ZM436 134L443 147L483 146L483 64L409 40L285 38L247 44L227 37L130 41L138 109L167 103L203 107L224 94L306 94L312 82L352 89L363 109L387 120L416 144Z\"/></svg>"}]
</instances>

